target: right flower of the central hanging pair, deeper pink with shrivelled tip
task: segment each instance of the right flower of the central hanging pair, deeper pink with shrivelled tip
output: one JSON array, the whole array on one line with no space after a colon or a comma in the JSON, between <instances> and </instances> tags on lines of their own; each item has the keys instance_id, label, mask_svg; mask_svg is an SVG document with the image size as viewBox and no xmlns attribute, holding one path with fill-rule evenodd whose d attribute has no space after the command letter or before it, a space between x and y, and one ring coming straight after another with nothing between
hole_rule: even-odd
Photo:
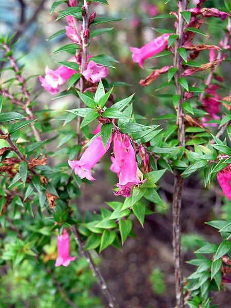
<instances>
[{"instance_id":1,"label":"right flower of the central hanging pair, deeper pink with shrivelled tip","mask_svg":"<svg viewBox=\"0 0 231 308\"><path fill-rule=\"evenodd\" d=\"M132 186L144 182L137 178L136 155L127 134L115 133L113 141L114 158L111 158L110 170L118 174L120 188L115 196L131 197Z\"/></svg>"}]
</instances>

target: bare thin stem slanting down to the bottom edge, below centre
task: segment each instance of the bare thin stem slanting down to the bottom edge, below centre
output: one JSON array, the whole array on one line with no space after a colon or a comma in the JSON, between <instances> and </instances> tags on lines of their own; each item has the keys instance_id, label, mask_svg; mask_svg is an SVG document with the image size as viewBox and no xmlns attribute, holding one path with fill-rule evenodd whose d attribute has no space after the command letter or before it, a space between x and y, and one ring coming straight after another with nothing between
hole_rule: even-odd
<instances>
[{"instance_id":1,"label":"bare thin stem slanting down to the bottom edge, below centre","mask_svg":"<svg viewBox=\"0 0 231 308\"><path fill-rule=\"evenodd\" d=\"M91 258L91 255L89 252L84 250L84 243L81 239L81 236L78 232L78 229L76 229L75 227L71 226L70 227L70 231L73 233L74 235L74 240L75 242L78 244L81 253L85 256L90 268L92 269L92 272L95 276L95 278L97 278L97 281L101 287L101 291L102 293L105 295L105 297L108 300L108 306L112 307L112 308L119 308L117 302L115 301L114 296L111 294L111 292L108 290L107 284L102 276L102 274L100 273L98 267L95 265L94 261Z\"/></svg>"}]
</instances>

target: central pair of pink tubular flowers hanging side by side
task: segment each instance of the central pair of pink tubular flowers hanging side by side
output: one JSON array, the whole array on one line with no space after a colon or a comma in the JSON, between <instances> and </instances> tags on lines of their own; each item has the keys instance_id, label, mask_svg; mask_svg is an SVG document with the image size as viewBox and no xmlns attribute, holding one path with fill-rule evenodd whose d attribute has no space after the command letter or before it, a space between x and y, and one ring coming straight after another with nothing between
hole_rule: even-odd
<instances>
[{"instance_id":1,"label":"central pair of pink tubular flowers hanging side by side","mask_svg":"<svg viewBox=\"0 0 231 308\"><path fill-rule=\"evenodd\" d=\"M112 140L114 157L111 157L112 165L110 170L117 173L119 178L119 183L117 184L119 190L115 195L130 197L133 185L138 185L144 181L140 181L137 177L136 155L127 134L116 132L113 136L111 135L106 148L103 146L101 136L95 138L80 160L68 160L68 164L81 179L87 178L90 181L94 181L95 179L91 175L91 168L103 157Z\"/></svg>"}]
</instances>

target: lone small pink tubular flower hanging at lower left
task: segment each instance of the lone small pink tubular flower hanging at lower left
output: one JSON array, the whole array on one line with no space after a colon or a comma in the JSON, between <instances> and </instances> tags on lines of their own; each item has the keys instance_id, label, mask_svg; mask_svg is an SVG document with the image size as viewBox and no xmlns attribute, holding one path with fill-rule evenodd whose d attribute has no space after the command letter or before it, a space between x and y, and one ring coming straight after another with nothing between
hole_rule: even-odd
<instances>
[{"instance_id":1,"label":"lone small pink tubular flower hanging at lower left","mask_svg":"<svg viewBox=\"0 0 231 308\"><path fill-rule=\"evenodd\" d=\"M55 267L63 265L68 266L76 257L69 256L70 238L67 229L63 229L62 235L57 236L57 252L58 257L54 264Z\"/></svg>"}]
</instances>

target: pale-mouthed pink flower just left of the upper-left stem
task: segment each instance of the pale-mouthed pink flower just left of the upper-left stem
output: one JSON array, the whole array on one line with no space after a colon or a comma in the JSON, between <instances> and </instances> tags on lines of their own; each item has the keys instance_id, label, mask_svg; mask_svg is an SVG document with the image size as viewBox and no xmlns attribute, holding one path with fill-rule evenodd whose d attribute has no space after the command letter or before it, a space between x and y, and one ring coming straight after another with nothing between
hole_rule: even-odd
<instances>
[{"instance_id":1,"label":"pale-mouthed pink flower just left of the upper-left stem","mask_svg":"<svg viewBox=\"0 0 231 308\"><path fill-rule=\"evenodd\" d=\"M73 62L73 58L69 59ZM39 76L41 86L45 90L50 91L51 94L55 95L59 92L59 86L64 84L76 71L61 65L56 70L50 69L48 66L45 68L45 78Z\"/></svg>"}]
</instances>

